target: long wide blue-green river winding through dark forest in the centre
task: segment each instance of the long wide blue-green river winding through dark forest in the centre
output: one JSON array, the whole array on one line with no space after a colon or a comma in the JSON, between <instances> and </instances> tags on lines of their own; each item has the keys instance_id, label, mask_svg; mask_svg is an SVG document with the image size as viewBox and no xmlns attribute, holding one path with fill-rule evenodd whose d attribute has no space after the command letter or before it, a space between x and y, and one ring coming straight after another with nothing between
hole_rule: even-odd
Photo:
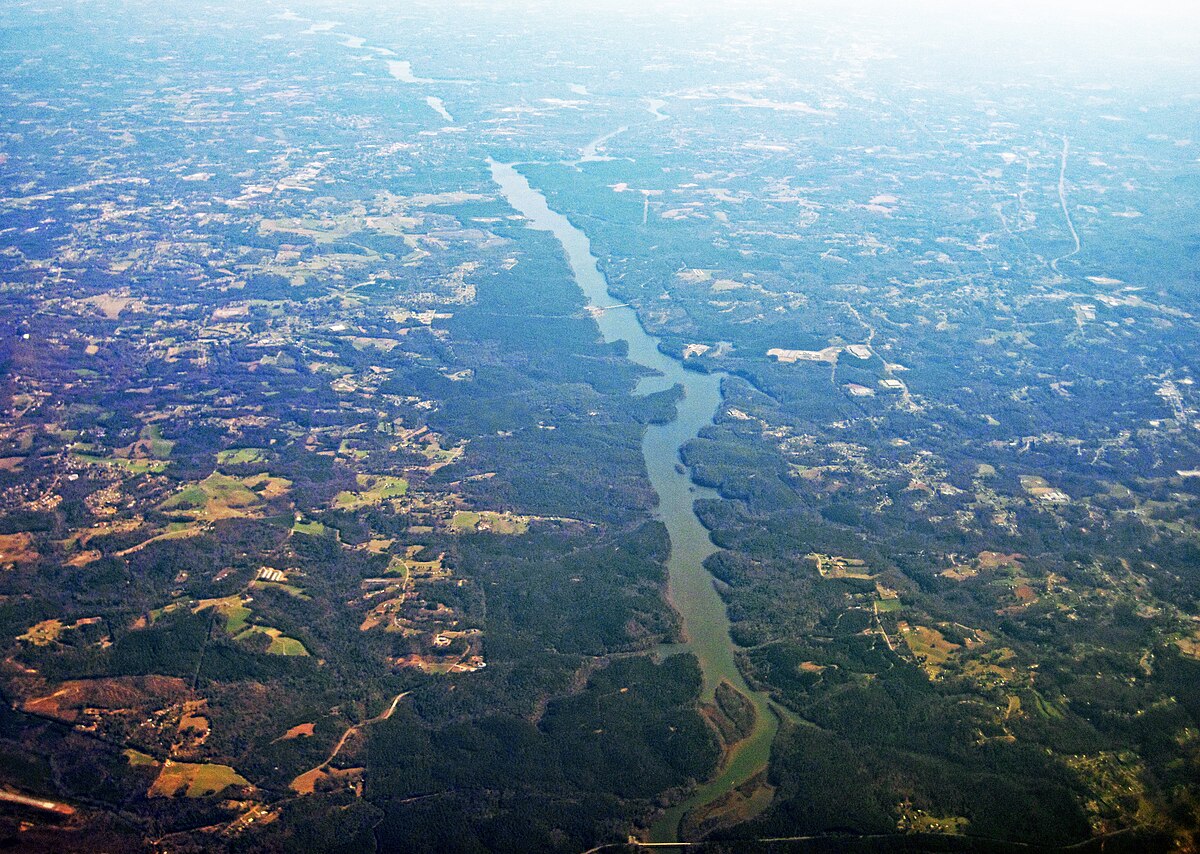
<instances>
[{"instance_id":1,"label":"long wide blue-green river winding through dark forest in the centre","mask_svg":"<svg viewBox=\"0 0 1200 854\"><path fill-rule=\"evenodd\" d=\"M667 561L667 595L683 619L686 642L665 648L664 651L692 652L700 660L704 675L701 699L713 702L716 686L724 680L744 694L754 705L754 730L734 745L718 776L697 788L686 800L668 810L650 829L652 842L674 841L684 816L700 806L737 788L767 766L770 746L779 728L779 718L766 694L752 691L738 669L736 645L730 637L730 619L725 602L713 587L713 576L704 569L704 559L716 551L708 531L696 517L697 499L718 498L715 489L698 487L690 474L679 465L679 449L696 437L701 428L713 423L721 403L721 379L725 374L703 374L688 371L678 360L662 354L658 341L642 329L636 312L628 306L614 306L608 283L596 266L592 245L583 231L550 209L546 198L512 166L488 161L492 178L509 204L528 221L530 228L552 233L562 243L571 271L588 305L596 309L596 323L606 342L625 341L629 357L659 375L642 379L640 395L664 391L674 385L684 389L677 417L666 425L652 425L642 440L642 453L650 483L659 495L658 518L671 537Z\"/></svg>"}]
</instances>

